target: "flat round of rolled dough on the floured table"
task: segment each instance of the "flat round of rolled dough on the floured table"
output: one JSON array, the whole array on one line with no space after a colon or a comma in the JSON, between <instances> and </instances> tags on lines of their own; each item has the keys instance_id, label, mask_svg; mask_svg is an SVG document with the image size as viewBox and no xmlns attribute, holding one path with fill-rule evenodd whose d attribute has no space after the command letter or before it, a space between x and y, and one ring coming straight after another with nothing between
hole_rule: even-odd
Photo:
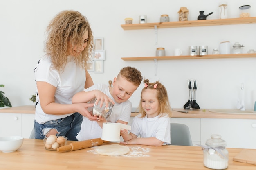
<instances>
[{"instance_id":1,"label":"flat round of rolled dough on the floured table","mask_svg":"<svg viewBox=\"0 0 256 170\"><path fill-rule=\"evenodd\" d=\"M103 146L97 147L95 150L97 153L101 155L107 155L107 156L125 155L130 152L130 149L128 146L122 146L119 144L103 145Z\"/></svg>"}]
</instances>

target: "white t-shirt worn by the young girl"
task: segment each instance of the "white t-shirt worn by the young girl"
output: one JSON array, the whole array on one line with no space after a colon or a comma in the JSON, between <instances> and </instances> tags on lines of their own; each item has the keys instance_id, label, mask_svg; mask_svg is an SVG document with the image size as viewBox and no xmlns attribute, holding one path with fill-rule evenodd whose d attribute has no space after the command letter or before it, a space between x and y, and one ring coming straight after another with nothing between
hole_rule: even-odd
<instances>
[{"instance_id":1,"label":"white t-shirt worn by the young girl","mask_svg":"<svg viewBox=\"0 0 256 170\"><path fill-rule=\"evenodd\" d=\"M163 145L171 144L171 120L170 117L159 115L154 118L141 118L141 113L132 121L130 132L140 137L156 137L158 140L164 142Z\"/></svg>"}]
</instances>

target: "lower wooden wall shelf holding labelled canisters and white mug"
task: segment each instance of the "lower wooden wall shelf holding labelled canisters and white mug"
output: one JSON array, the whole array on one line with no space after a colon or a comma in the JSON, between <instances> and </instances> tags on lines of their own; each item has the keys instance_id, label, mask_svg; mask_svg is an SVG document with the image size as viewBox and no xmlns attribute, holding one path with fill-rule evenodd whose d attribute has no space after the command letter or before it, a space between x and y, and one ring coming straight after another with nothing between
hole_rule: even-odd
<instances>
[{"instance_id":1,"label":"lower wooden wall shelf holding labelled canisters and white mug","mask_svg":"<svg viewBox=\"0 0 256 170\"><path fill-rule=\"evenodd\" d=\"M122 57L124 61L142 61L142 60L181 60L181 59L223 59L223 58L251 58L256 57L256 54L220 54L220 55L205 55L205 56L152 56L152 57Z\"/></svg>"}]
</instances>

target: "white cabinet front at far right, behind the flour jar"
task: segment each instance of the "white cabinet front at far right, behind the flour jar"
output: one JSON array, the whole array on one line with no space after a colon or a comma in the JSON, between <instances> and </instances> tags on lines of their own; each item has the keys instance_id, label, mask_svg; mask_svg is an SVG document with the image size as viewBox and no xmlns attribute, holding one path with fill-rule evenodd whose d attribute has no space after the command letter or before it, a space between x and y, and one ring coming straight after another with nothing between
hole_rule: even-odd
<instances>
[{"instance_id":1,"label":"white cabinet front at far right, behind the flour jar","mask_svg":"<svg viewBox=\"0 0 256 170\"><path fill-rule=\"evenodd\" d=\"M256 149L255 119L201 118L201 144L212 134L221 135L228 148Z\"/></svg>"}]
</instances>

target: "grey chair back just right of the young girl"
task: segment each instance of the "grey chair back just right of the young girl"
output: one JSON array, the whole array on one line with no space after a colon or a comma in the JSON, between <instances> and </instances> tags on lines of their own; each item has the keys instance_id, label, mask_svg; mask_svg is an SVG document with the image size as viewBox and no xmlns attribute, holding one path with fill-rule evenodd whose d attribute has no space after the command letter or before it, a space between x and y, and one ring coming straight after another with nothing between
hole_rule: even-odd
<instances>
[{"instance_id":1,"label":"grey chair back just right of the young girl","mask_svg":"<svg viewBox=\"0 0 256 170\"><path fill-rule=\"evenodd\" d=\"M171 145L193 146L186 124L171 123Z\"/></svg>"}]
</instances>

